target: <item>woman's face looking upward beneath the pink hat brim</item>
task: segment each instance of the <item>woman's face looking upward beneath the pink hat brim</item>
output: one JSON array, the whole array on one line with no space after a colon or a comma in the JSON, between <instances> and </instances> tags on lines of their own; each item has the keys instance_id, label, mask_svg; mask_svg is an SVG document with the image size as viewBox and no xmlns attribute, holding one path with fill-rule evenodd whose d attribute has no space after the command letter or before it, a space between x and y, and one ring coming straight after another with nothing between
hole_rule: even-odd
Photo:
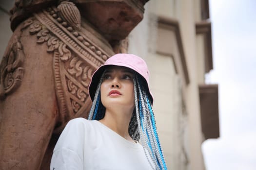
<instances>
[{"instance_id":1,"label":"woman's face looking upward beneath the pink hat brim","mask_svg":"<svg viewBox=\"0 0 256 170\"><path fill-rule=\"evenodd\" d=\"M132 70L120 66L107 68L100 86L100 98L106 109L119 105L133 110L135 102Z\"/></svg>"}]
</instances>

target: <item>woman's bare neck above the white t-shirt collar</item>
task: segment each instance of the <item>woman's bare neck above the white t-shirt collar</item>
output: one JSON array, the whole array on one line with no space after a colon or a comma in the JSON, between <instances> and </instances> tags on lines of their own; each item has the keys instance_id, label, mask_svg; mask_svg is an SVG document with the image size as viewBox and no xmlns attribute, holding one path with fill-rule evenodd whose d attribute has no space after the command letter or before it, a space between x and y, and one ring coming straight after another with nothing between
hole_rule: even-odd
<instances>
[{"instance_id":1,"label":"woman's bare neck above the white t-shirt collar","mask_svg":"<svg viewBox=\"0 0 256 170\"><path fill-rule=\"evenodd\" d=\"M132 141L129 135L129 123L132 117L132 111L125 112L123 109L107 109L103 119L99 120L102 124L112 129L118 135L124 137L127 140Z\"/></svg>"}]
</instances>

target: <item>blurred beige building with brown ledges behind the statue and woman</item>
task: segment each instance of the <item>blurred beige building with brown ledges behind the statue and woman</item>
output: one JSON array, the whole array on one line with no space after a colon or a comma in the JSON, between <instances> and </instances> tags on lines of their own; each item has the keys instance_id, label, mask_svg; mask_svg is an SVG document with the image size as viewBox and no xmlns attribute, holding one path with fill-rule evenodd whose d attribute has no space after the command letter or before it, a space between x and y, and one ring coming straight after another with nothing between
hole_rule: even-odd
<instances>
[{"instance_id":1,"label":"blurred beige building with brown ledges behind the statue and woman","mask_svg":"<svg viewBox=\"0 0 256 170\"><path fill-rule=\"evenodd\" d=\"M0 59L12 35L0 1ZM129 53L146 60L154 111L170 170L205 170L201 144L219 137L218 86L205 82L213 69L208 0L150 0L129 35Z\"/></svg>"}]
</instances>

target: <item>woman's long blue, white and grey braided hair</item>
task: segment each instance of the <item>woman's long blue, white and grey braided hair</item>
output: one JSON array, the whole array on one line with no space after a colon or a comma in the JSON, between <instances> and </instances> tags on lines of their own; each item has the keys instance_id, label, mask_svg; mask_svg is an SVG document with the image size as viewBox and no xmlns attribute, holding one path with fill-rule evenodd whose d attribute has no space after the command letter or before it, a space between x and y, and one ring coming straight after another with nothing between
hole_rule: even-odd
<instances>
[{"instance_id":1,"label":"woman's long blue, white and grey braided hair","mask_svg":"<svg viewBox=\"0 0 256 170\"><path fill-rule=\"evenodd\" d=\"M93 104L89 113L89 120L100 120L105 116L105 107L100 100L100 85L102 83L102 73L97 90L95 92ZM143 78L134 73L134 96L135 109L129 123L129 135L134 140L140 140L144 153L153 169L167 170L164 155L158 138L156 121L152 104L149 100L148 90L145 88ZM154 165L152 165L152 163Z\"/></svg>"}]
</instances>

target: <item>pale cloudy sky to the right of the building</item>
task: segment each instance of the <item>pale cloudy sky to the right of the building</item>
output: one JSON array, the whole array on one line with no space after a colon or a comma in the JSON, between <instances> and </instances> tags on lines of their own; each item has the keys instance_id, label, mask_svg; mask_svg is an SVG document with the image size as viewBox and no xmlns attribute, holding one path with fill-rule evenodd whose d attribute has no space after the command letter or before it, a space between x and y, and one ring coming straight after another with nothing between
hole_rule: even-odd
<instances>
[{"instance_id":1,"label":"pale cloudy sky to the right of the building","mask_svg":"<svg viewBox=\"0 0 256 170\"><path fill-rule=\"evenodd\" d=\"M220 137L202 144L207 170L256 170L256 0L209 0Z\"/></svg>"}]
</instances>

